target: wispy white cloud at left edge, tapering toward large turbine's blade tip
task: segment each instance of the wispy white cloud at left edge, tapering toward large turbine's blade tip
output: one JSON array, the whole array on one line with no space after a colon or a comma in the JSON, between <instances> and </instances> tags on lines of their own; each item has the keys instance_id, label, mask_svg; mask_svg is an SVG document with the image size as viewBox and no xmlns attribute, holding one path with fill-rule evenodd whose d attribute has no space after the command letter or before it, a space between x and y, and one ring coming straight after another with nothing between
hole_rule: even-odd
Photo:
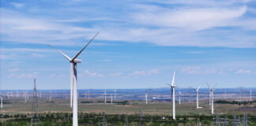
<instances>
[{"instance_id":1,"label":"wispy white cloud at left edge, tapering toward large turbine's blade tip","mask_svg":"<svg viewBox=\"0 0 256 126\"><path fill-rule=\"evenodd\" d=\"M9 9L0 9L2 14L2 41L15 43L39 43L52 45L73 45L70 39L91 38L95 34L92 28L74 27L68 24L55 23L49 19L23 16ZM59 42L62 41L62 42ZM54 42L54 43L53 43Z\"/></svg>"}]
</instances>

